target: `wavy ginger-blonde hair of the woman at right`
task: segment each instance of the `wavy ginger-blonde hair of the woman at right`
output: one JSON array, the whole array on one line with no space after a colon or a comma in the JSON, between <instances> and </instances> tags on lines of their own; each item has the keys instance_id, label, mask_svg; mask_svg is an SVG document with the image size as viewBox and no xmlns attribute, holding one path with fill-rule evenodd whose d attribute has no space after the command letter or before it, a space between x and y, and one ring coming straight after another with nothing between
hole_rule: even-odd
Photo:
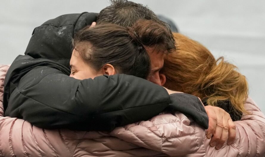
<instances>
[{"instance_id":1,"label":"wavy ginger-blonde hair of the woman at right","mask_svg":"<svg viewBox=\"0 0 265 157\"><path fill-rule=\"evenodd\" d=\"M166 76L164 86L200 97L208 105L217 106L229 102L233 110L247 113L244 102L248 97L245 76L236 71L237 67L217 60L202 44L188 37L174 33L177 50L165 57L161 73Z\"/></svg>"}]
</instances>

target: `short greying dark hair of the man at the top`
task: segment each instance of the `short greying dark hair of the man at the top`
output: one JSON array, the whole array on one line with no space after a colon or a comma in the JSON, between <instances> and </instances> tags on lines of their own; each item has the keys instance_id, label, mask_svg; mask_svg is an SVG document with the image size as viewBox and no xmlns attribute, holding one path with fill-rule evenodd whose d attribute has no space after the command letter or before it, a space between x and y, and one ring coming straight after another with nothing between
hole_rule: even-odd
<instances>
[{"instance_id":1,"label":"short greying dark hair of the man at the top","mask_svg":"<svg viewBox=\"0 0 265 157\"><path fill-rule=\"evenodd\" d=\"M168 42L175 40L168 24L161 21L147 6L127 0L110 0L111 5L102 9L97 15L97 24L113 23L123 27L132 27L138 20L153 20L165 27L170 33Z\"/></svg>"}]
</instances>

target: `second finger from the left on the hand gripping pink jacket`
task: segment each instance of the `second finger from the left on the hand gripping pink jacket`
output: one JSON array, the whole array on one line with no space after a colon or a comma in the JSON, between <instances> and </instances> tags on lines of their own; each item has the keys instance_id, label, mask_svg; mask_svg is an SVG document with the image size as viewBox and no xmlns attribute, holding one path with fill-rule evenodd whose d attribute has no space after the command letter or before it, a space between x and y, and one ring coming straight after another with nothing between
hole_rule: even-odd
<instances>
[{"instance_id":1,"label":"second finger from the left on the hand gripping pink jacket","mask_svg":"<svg viewBox=\"0 0 265 157\"><path fill-rule=\"evenodd\" d=\"M210 145L211 147L215 147L216 144L219 142L221 135L222 135L222 131L223 131L223 116L220 114L216 114L217 117L217 122L216 122L216 127L215 127L215 132L213 134L213 137L211 138L211 142Z\"/></svg>"}]
</instances>

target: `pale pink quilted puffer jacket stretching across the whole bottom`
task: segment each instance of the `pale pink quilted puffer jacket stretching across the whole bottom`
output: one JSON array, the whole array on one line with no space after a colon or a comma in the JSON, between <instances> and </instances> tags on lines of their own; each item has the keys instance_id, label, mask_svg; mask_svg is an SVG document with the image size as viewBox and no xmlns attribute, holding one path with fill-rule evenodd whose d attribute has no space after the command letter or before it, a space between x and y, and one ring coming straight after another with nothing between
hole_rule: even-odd
<instances>
[{"instance_id":1,"label":"pale pink quilted puffer jacket stretching across the whole bottom","mask_svg":"<svg viewBox=\"0 0 265 157\"><path fill-rule=\"evenodd\" d=\"M250 98L245 107L252 114L235 122L235 142L220 150L210 147L205 130L179 112L161 113L110 133L47 130L3 117L8 68L0 65L0 156L265 156L265 117Z\"/></svg>"}]
</instances>

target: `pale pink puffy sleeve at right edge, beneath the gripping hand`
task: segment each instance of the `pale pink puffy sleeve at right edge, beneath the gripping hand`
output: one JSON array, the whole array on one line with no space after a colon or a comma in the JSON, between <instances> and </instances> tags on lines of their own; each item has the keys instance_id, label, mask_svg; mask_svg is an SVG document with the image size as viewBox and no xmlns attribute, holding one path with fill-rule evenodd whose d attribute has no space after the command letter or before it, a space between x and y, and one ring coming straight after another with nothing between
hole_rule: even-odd
<instances>
[{"instance_id":1,"label":"pale pink puffy sleeve at right edge, beneath the gripping hand","mask_svg":"<svg viewBox=\"0 0 265 157\"><path fill-rule=\"evenodd\" d=\"M216 150L205 138L207 156L265 156L265 116L251 98L247 99L245 108L250 114L243 114L241 121L234 122L236 139L233 144Z\"/></svg>"}]
</instances>

